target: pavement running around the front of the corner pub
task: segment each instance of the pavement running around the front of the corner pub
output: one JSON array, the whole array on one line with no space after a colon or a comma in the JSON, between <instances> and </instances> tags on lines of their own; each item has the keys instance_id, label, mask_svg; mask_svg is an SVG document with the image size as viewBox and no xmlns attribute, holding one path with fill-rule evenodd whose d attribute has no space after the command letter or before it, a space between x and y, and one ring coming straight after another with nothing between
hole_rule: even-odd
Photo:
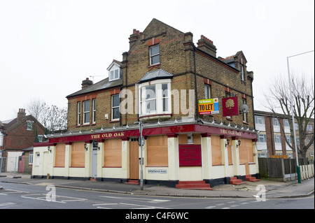
<instances>
[{"instance_id":1,"label":"pavement running around the front of the corner pub","mask_svg":"<svg viewBox=\"0 0 315 223\"><path fill-rule=\"evenodd\" d=\"M242 185L218 185L212 190L176 189L158 185L129 185L120 182L92 182L85 180L64 180L31 178L31 175L1 173L0 182L18 183L27 185L55 185L56 188L85 189L99 192L112 192L122 194L149 195L149 196L189 196L207 198L257 198L264 192L266 199L296 198L314 194L314 178L309 178L298 183L297 180L289 182L276 182L261 179L258 182L248 182ZM5 189L0 186L0 189Z\"/></svg>"}]
</instances>

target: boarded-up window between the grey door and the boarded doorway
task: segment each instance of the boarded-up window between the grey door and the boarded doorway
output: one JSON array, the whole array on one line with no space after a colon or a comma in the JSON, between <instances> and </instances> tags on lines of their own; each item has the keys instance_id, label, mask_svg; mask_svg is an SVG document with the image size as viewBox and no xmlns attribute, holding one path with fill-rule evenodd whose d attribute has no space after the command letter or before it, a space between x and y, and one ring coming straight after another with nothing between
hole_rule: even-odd
<instances>
[{"instance_id":1,"label":"boarded-up window between the grey door and the boarded doorway","mask_svg":"<svg viewBox=\"0 0 315 223\"><path fill-rule=\"evenodd\" d=\"M121 139L106 140L104 147L104 166L121 167Z\"/></svg>"}]
</instances>

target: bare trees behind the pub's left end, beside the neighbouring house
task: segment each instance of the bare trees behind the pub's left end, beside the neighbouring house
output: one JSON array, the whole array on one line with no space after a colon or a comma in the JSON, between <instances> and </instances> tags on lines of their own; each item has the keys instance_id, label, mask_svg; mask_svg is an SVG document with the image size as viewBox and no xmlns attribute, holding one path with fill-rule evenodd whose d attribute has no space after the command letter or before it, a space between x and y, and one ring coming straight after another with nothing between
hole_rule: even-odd
<instances>
[{"instance_id":1,"label":"bare trees behind the pub's left end, beside the neighbouring house","mask_svg":"<svg viewBox=\"0 0 315 223\"><path fill-rule=\"evenodd\" d=\"M66 129L67 110L57 106L49 106L41 99L31 99L27 106L28 112L48 131L62 131Z\"/></svg>"}]
</instances>

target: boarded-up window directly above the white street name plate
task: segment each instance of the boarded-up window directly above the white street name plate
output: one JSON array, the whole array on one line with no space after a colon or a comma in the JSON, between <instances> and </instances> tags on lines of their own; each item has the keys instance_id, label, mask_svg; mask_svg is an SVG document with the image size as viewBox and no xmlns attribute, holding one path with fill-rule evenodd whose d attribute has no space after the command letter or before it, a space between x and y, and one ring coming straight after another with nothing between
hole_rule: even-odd
<instances>
[{"instance_id":1,"label":"boarded-up window directly above the white street name plate","mask_svg":"<svg viewBox=\"0 0 315 223\"><path fill-rule=\"evenodd\" d=\"M149 136L147 143L147 165L169 166L167 136Z\"/></svg>"}]
</instances>

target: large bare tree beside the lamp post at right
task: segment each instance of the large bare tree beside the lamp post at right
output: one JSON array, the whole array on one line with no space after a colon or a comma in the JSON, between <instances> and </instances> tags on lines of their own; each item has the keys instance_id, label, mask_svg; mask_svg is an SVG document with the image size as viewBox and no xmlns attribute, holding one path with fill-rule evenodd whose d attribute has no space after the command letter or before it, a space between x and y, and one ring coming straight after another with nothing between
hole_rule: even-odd
<instances>
[{"instance_id":1,"label":"large bare tree beside the lamp post at right","mask_svg":"<svg viewBox=\"0 0 315 223\"><path fill-rule=\"evenodd\" d=\"M297 153L300 158L306 158L307 150L314 143L314 128L309 128L309 121L314 119L314 79L310 81L303 76L294 76L292 78L293 94L293 115L295 125L297 124L299 133L299 143L297 143ZM294 142L294 135L291 116L290 87L287 78L275 78L272 85L269 86L269 94L265 94L267 101L266 107L274 113L282 113L288 119L290 124L290 138ZM280 124L281 131L284 134L284 128ZM285 138L289 147L295 151L294 143L292 145ZM298 145L300 144L300 145Z\"/></svg>"}]
</instances>

